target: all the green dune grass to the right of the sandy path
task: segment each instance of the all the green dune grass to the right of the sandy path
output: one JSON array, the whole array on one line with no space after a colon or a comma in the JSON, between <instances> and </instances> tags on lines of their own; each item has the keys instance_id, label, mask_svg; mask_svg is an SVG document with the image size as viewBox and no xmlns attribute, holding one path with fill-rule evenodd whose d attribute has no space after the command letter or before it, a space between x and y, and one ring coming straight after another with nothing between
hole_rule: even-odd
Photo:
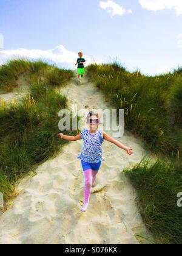
<instances>
[{"instance_id":1,"label":"all the green dune grass to the right of the sandy path","mask_svg":"<svg viewBox=\"0 0 182 256\"><path fill-rule=\"evenodd\" d=\"M141 214L156 242L181 243L182 68L149 77L113 63L90 65L87 75L113 106L124 109L125 128L158 156L156 163L144 160L125 173L138 191Z\"/></svg>"}]
</instances>

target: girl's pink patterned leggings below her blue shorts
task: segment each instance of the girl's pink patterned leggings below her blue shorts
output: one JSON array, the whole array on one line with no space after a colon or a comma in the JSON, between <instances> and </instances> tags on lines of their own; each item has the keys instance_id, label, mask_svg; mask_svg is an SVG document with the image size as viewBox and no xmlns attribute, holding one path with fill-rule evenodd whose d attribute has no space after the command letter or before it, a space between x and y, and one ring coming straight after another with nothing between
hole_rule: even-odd
<instances>
[{"instance_id":1,"label":"girl's pink patterned leggings below her blue shorts","mask_svg":"<svg viewBox=\"0 0 182 256\"><path fill-rule=\"evenodd\" d=\"M92 169L88 169L87 171L84 171L84 176L85 176L84 204L89 204L91 188L92 188L92 185L95 183L97 174L98 174L98 171L93 171Z\"/></svg>"}]
</instances>

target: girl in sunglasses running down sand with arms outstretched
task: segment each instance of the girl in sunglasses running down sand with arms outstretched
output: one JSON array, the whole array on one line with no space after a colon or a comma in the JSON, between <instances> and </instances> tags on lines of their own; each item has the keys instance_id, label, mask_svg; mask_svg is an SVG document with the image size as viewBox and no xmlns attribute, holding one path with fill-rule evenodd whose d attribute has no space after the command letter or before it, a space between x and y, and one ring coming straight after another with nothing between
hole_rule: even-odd
<instances>
[{"instance_id":1,"label":"girl in sunglasses running down sand with arms outstretched","mask_svg":"<svg viewBox=\"0 0 182 256\"><path fill-rule=\"evenodd\" d=\"M96 185L96 175L101 167L101 162L103 161L103 149L102 145L104 140L107 140L119 148L127 152L127 154L132 155L133 151L131 148L127 148L120 141L115 140L110 137L106 132L98 130L99 127L99 115L97 113L90 112L87 115L87 124L89 129L84 129L81 134L77 136L66 136L59 133L59 138L69 141L78 141L83 139L84 146L83 150L79 154L78 158L81 160L81 165L83 167L85 185L84 185L84 205L81 208L82 212L86 212L89 205L91 188Z\"/></svg>"}]
</instances>

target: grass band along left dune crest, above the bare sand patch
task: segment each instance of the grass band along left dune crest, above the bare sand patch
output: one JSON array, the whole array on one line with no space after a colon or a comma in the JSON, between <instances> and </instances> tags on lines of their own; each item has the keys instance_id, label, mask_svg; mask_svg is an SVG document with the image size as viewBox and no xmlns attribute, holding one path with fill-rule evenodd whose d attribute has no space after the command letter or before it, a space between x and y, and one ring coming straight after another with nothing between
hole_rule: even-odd
<instances>
[{"instance_id":1,"label":"grass band along left dune crest, above the bare sand patch","mask_svg":"<svg viewBox=\"0 0 182 256\"><path fill-rule=\"evenodd\" d=\"M0 66L0 89L6 92L12 91L18 86L18 79L23 74L27 75L30 84L42 80L53 86L63 85L73 77L73 71L59 69L42 60L34 62L24 59L10 60Z\"/></svg>"}]
</instances>

